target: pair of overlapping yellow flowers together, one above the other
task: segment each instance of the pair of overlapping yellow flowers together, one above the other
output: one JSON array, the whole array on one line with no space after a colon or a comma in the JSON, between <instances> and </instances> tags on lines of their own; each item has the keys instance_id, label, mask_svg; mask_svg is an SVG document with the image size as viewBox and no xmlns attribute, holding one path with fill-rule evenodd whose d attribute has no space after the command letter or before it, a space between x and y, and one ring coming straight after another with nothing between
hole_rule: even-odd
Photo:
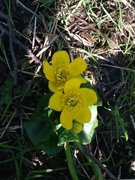
<instances>
[{"instance_id":1,"label":"pair of overlapping yellow flowers together, one above the other","mask_svg":"<svg viewBox=\"0 0 135 180\"><path fill-rule=\"evenodd\" d=\"M83 124L91 119L89 106L97 102L96 92L81 88L86 80L81 74L87 64L82 58L76 58L70 63L66 51L57 51L52 56L52 65L43 62L43 72L49 80L49 89L54 92L49 100L49 106L60 111L60 123L67 130L79 133Z\"/></svg>"}]
</instances>

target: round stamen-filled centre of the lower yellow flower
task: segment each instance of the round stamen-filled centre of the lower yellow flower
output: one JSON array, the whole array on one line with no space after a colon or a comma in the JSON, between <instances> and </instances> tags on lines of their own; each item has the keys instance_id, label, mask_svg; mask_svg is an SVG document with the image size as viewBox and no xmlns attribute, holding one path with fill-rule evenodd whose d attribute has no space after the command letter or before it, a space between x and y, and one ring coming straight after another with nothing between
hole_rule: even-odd
<instances>
[{"instance_id":1,"label":"round stamen-filled centre of the lower yellow flower","mask_svg":"<svg viewBox=\"0 0 135 180\"><path fill-rule=\"evenodd\" d=\"M64 108L75 112L79 110L80 106L82 105L82 98L77 92L69 92L64 95L62 104Z\"/></svg>"}]
</instances>

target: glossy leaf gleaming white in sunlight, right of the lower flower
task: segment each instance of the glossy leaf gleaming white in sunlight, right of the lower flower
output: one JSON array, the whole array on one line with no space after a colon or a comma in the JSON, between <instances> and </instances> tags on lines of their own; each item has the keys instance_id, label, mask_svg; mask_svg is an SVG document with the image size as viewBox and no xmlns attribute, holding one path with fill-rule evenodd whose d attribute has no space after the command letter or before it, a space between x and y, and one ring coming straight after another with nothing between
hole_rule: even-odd
<instances>
[{"instance_id":1,"label":"glossy leaf gleaming white in sunlight, right of the lower flower","mask_svg":"<svg viewBox=\"0 0 135 180\"><path fill-rule=\"evenodd\" d=\"M93 105L89 107L92 117L88 123L84 124L83 130L78 134L78 138L81 144L89 144L95 132L95 128L98 126L97 120L97 106Z\"/></svg>"}]
</instances>

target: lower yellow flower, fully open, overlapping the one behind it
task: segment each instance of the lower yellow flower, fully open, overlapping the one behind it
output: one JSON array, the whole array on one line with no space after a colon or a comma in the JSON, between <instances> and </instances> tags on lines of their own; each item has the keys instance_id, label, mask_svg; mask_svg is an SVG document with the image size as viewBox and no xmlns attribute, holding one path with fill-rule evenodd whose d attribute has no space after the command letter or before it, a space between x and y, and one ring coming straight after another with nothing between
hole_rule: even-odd
<instances>
[{"instance_id":1,"label":"lower yellow flower, fully open, overlapping the one behind it","mask_svg":"<svg viewBox=\"0 0 135 180\"><path fill-rule=\"evenodd\" d=\"M51 109L62 111L60 122L67 130L73 128L73 121L80 124L89 122L91 112L88 106L97 102L96 92L92 89L80 88L81 83L79 78L67 81L64 92L54 93L49 100ZM82 125L79 125L77 128L81 130L82 127Z\"/></svg>"}]
</instances>

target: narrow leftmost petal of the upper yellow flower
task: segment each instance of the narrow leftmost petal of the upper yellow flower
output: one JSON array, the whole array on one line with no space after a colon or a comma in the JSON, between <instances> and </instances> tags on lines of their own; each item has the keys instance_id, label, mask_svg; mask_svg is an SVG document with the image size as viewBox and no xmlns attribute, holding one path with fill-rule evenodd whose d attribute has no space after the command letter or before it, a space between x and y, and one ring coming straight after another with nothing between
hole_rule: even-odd
<instances>
[{"instance_id":1,"label":"narrow leftmost petal of the upper yellow flower","mask_svg":"<svg viewBox=\"0 0 135 180\"><path fill-rule=\"evenodd\" d=\"M55 81L53 68L47 61L43 61L43 72L49 81Z\"/></svg>"}]
</instances>

